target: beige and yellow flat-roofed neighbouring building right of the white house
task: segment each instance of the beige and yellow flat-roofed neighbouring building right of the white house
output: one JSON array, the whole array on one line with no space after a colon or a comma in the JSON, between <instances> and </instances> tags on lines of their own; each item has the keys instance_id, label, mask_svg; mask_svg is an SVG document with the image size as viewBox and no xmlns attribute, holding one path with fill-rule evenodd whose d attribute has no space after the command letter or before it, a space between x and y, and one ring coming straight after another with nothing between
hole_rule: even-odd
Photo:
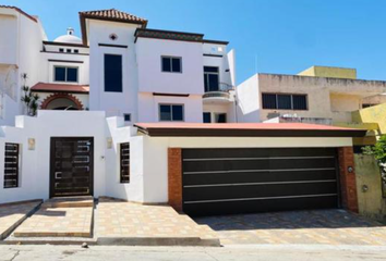
<instances>
[{"instance_id":1,"label":"beige and yellow flat-roofed neighbouring building right of the white house","mask_svg":"<svg viewBox=\"0 0 386 261\"><path fill-rule=\"evenodd\" d=\"M352 112L386 102L386 82L355 77L354 70L322 66L256 74L237 88L240 122L351 123Z\"/></svg>"}]
</instances>

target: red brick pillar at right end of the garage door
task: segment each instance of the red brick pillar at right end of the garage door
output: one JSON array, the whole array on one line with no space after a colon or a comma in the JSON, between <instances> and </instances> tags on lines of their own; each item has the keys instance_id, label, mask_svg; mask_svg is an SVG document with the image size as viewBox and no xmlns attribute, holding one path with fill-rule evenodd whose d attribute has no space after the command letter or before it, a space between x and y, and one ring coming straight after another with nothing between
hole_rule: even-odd
<instances>
[{"instance_id":1,"label":"red brick pillar at right end of the garage door","mask_svg":"<svg viewBox=\"0 0 386 261\"><path fill-rule=\"evenodd\" d=\"M340 192L342 207L358 213L358 191L352 147L338 148ZM352 172L349 172L349 167Z\"/></svg>"}]
</instances>

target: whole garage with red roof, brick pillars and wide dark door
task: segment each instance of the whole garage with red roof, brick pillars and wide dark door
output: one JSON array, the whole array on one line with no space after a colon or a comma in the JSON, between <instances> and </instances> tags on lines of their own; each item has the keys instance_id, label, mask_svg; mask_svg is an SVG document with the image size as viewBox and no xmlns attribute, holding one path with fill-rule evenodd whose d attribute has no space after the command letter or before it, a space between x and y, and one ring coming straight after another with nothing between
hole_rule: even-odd
<instances>
[{"instance_id":1,"label":"whole garage with red roof, brick pillars and wide dark door","mask_svg":"<svg viewBox=\"0 0 386 261\"><path fill-rule=\"evenodd\" d=\"M352 138L365 129L303 123L135 126L143 140L138 151L145 151L135 161L146 166L150 181L144 189L176 211L191 216L358 212Z\"/></svg>"}]
</instances>

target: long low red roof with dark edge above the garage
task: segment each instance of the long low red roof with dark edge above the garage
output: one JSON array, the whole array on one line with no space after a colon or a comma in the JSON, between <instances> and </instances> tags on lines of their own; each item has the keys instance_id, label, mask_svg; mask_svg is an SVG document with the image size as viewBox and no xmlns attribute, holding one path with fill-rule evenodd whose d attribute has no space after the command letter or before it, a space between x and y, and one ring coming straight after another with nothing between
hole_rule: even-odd
<instances>
[{"instance_id":1,"label":"long low red roof with dark edge above the garage","mask_svg":"<svg viewBox=\"0 0 386 261\"><path fill-rule=\"evenodd\" d=\"M149 136L363 137L366 129L305 123L136 123Z\"/></svg>"}]
</instances>

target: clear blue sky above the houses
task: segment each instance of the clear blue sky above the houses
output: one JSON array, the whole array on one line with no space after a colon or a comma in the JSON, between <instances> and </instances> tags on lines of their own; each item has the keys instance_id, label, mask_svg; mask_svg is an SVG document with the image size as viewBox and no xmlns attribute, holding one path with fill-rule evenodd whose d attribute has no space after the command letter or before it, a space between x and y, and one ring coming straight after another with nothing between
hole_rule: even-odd
<instances>
[{"instance_id":1,"label":"clear blue sky above the houses","mask_svg":"<svg viewBox=\"0 0 386 261\"><path fill-rule=\"evenodd\" d=\"M254 73L297 74L311 65L355 67L359 78L386 80L385 0L1 0L37 14L50 40L79 11L116 8L149 28L203 33L229 40L238 83Z\"/></svg>"}]
</instances>

